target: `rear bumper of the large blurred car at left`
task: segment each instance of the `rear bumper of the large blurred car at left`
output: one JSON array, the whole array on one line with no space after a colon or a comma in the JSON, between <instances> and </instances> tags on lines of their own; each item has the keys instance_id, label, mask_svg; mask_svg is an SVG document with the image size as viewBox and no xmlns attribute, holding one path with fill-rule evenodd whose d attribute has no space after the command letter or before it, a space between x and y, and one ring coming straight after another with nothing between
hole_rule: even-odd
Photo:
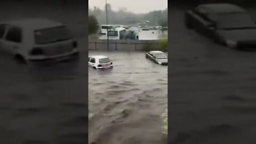
<instances>
[{"instance_id":1,"label":"rear bumper of the large blurred car at left","mask_svg":"<svg viewBox=\"0 0 256 144\"><path fill-rule=\"evenodd\" d=\"M38 61L65 61L72 58L76 58L79 55L79 51L73 51L67 54L61 54L53 57L30 57L28 60L31 62Z\"/></svg>"}]
</instances>

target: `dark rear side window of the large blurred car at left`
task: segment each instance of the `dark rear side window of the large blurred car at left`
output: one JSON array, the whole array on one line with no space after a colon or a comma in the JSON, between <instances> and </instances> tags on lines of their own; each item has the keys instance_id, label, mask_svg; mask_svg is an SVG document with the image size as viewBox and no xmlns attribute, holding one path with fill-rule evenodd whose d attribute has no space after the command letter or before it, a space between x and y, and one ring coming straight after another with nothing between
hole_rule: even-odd
<instances>
[{"instance_id":1,"label":"dark rear side window of the large blurred car at left","mask_svg":"<svg viewBox=\"0 0 256 144\"><path fill-rule=\"evenodd\" d=\"M19 27L10 27L5 39L6 41L21 43L22 30Z\"/></svg>"}]
</instances>

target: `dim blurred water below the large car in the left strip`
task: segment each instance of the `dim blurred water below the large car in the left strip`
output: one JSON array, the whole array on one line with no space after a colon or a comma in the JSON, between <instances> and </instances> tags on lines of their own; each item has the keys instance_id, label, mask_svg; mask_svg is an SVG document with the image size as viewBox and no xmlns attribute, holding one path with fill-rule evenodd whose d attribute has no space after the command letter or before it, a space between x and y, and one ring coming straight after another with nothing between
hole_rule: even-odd
<instances>
[{"instance_id":1,"label":"dim blurred water below the large car in the left strip","mask_svg":"<svg viewBox=\"0 0 256 144\"><path fill-rule=\"evenodd\" d=\"M51 65L9 56L0 54L0 143L86 143L87 56Z\"/></svg>"}]
</instances>

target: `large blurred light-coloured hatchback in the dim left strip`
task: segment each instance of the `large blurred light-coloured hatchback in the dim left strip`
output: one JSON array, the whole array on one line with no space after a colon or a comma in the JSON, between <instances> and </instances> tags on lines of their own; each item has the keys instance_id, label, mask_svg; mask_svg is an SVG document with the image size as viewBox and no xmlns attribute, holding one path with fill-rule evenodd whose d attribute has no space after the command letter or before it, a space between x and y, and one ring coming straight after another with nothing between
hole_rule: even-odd
<instances>
[{"instance_id":1,"label":"large blurred light-coloured hatchback in the dim left strip","mask_svg":"<svg viewBox=\"0 0 256 144\"><path fill-rule=\"evenodd\" d=\"M77 41L65 25L39 18L0 23L0 50L24 63L62 61L79 53Z\"/></svg>"}]
</instances>

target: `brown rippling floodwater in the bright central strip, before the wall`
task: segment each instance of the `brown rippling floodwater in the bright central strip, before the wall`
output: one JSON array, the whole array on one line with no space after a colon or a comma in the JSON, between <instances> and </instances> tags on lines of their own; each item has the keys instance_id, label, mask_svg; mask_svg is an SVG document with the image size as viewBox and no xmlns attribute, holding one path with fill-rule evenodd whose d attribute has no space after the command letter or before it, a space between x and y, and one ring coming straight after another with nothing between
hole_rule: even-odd
<instances>
[{"instance_id":1,"label":"brown rippling floodwater in the bright central strip, before the wall","mask_svg":"<svg viewBox=\"0 0 256 144\"><path fill-rule=\"evenodd\" d=\"M89 68L89 143L167 143L161 114L167 108L167 67L145 52L89 51L114 68Z\"/></svg>"}]
</instances>

